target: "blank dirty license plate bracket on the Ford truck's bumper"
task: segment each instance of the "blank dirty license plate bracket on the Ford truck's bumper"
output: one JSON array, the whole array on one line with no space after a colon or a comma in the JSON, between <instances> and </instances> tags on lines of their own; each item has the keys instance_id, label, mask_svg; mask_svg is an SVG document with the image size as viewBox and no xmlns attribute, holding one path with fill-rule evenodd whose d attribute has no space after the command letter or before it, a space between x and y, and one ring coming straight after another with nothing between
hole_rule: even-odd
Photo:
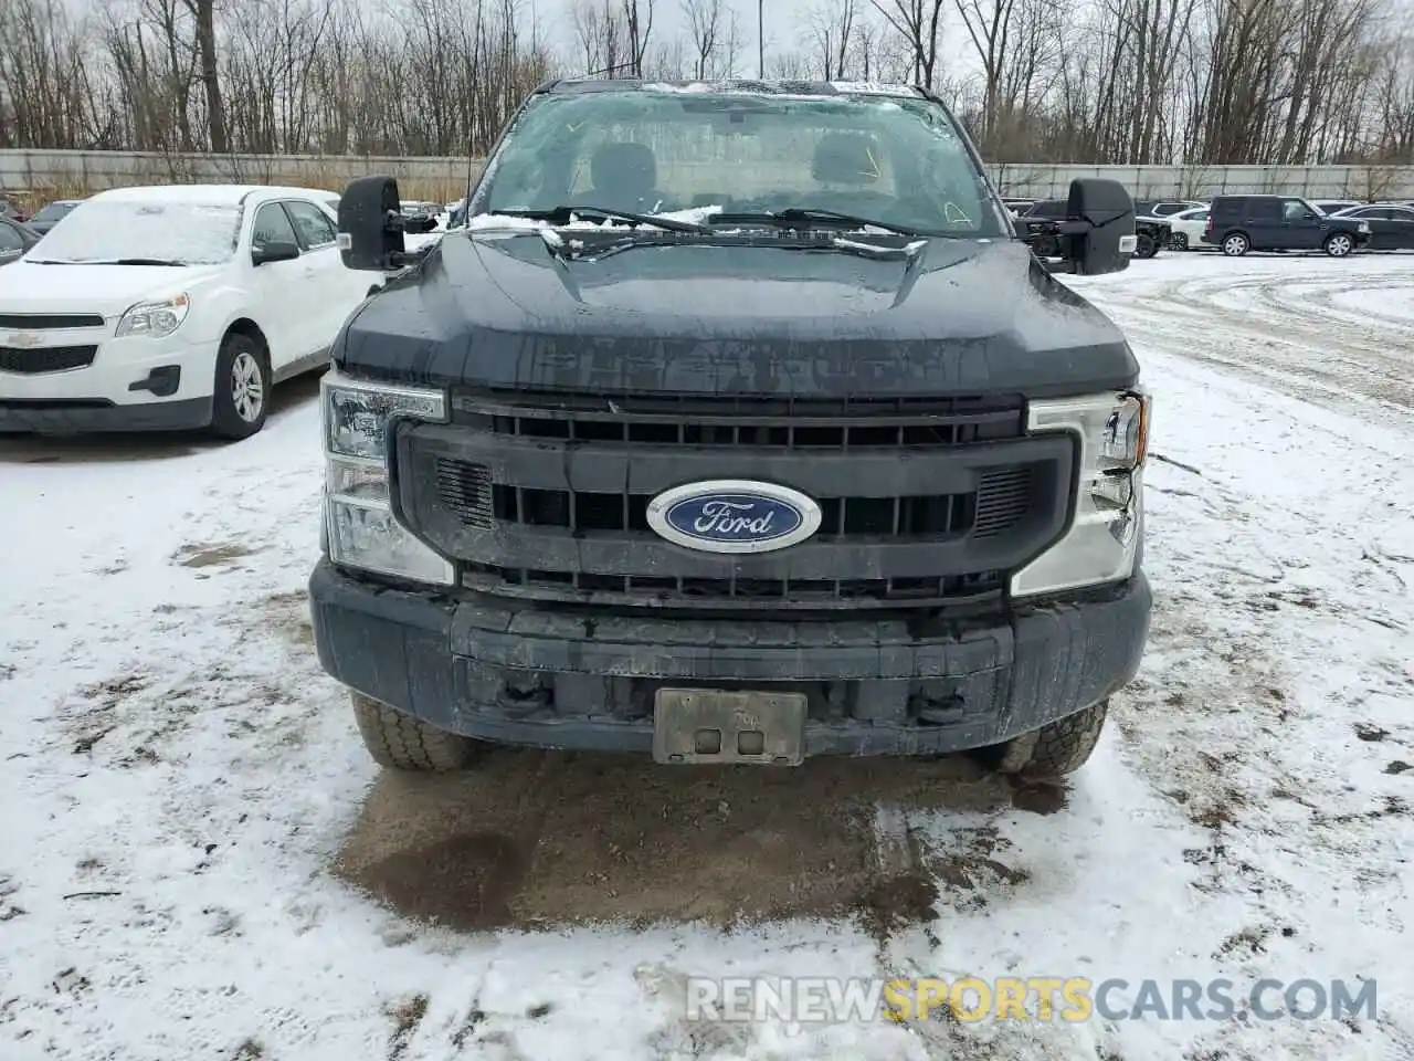
<instances>
[{"instance_id":1,"label":"blank dirty license plate bracket on the Ford truck's bumper","mask_svg":"<svg viewBox=\"0 0 1414 1061\"><path fill-rule=\"evenodd\" d=\"M653 697L653 760L672 765L805 761L805 693L659 689Z\"/></svg>"}]
</instances>

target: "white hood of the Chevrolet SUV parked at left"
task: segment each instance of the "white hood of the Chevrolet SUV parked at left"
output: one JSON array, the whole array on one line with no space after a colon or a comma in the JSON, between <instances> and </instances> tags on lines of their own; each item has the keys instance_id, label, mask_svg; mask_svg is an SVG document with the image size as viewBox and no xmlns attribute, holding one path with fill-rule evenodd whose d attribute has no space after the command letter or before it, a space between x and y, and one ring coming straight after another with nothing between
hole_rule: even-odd
<instances>
[{"instance_id":1,"label":"white hood of the Chevrolet SUV parked at left","mask_svg":"<svg viewBox=\"0 0 1414 1061\"><path fill-rule=\"evenodd\" d=\"M221 270L222 266L38 265L21 257L0 273L0 311L116 317L136 303L189 291Z\"/></svg>"}]
</instances>

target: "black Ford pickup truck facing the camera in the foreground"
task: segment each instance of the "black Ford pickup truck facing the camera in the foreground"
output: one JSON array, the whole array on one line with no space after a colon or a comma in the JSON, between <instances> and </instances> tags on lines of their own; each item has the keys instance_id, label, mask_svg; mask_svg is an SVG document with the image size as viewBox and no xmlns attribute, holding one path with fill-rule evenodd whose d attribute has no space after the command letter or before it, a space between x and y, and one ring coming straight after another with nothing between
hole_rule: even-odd
<instances>
[{"instance_id":1,"label":"black Ford pickup truck facing the camera in the foreground","mask_svg":"<svg viewBox=\"0 0 1414 1061\"><path fill-rule=\"evenodd\" d=\"M320 659L372 755L976 750L1056 777L1148 631L1150 398L916 89L554 82L322 383ZM1076 181L1069 267L1133 204Z\"/></svg>"}]
</instances>

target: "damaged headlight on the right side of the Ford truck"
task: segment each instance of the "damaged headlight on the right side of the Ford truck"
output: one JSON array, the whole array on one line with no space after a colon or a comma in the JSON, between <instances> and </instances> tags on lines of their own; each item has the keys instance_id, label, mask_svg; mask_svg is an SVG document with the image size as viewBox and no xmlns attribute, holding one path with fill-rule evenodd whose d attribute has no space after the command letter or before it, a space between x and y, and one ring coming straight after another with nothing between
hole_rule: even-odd
<instances>
[{"instance_id":1,"label":"damaged headlight on the right side of the Ford truck","mask_svg":"<svg viewBox=\"0 0 1414 1061\"><path fill-rule=\"evenodd\" d=\"M1134 574L1144 525L1151 405L1143 389L1031 402L1028 430L1069 431L1079 441L1075 519L1060 540L1011 577L1012 597Z\"/></svg>"}]
</instances>

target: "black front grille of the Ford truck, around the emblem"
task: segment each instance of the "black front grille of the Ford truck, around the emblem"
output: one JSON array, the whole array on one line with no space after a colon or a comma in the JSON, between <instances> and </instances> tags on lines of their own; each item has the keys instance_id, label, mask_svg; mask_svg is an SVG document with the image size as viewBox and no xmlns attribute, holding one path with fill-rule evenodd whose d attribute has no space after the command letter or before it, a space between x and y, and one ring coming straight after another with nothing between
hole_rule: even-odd
<instances>
[{"instance_id":1,"label":"black front grille of the Ford truck, around the emblem","mask_svg":"<svg viewBox=\"0 0 1414 1061\"><path fill-rule=\"evenodd\" d=\"M795 402L461 393L403 423L400 516L484 593L674 610L994 607L1069 515L1073 443L1021 399ZM814 498L820 529L720 555L656 535L662 491L717 478Z\"/></svg>"}]
</instances>

